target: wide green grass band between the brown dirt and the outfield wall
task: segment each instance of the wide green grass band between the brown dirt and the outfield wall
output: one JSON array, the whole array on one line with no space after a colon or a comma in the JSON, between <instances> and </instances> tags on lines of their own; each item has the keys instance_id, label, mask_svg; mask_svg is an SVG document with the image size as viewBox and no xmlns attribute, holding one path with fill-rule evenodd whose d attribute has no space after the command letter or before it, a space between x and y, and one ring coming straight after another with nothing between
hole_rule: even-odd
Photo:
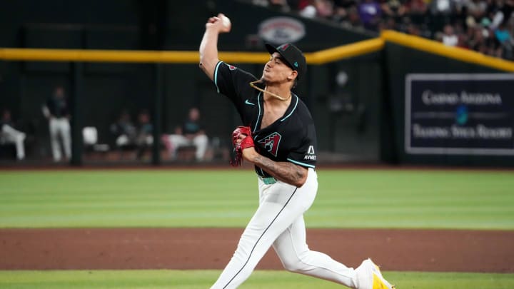
<instances>
[{"instance_id":1,"label":"wide green grass band between the brown dirt and the outfield wall","mask_svg":"<svg viewBox=\"0 0 514 289\"><path fill-rule=\"evenodd\" d=\"M318 171L308 228L514 229L514 173ZM240 227L252 171L0 173L0 228Z\"/></svg>"}]
</instances>

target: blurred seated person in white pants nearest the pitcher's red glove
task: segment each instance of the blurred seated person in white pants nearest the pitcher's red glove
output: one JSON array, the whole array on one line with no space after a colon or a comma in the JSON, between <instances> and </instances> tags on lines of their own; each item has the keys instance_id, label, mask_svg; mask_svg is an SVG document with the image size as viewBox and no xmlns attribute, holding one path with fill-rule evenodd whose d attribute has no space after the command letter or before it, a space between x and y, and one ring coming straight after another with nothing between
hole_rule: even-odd
<instances>
[{"instance_id":1,"label":"blurred seated person in white pants nearest the pitcher's red glove","mask_svg":"<svg viewBox=\"0 0 514 289\"><path fill-rule=\"evenodd\" d=\"M162 141L168 150L171 159L176 159L176 152L182 146L196 146L196 161L203 161L205 156L208 137L203 131L200 123L200 111L198 108L191 108L188 118L182 126L175 129L174 134L163 135Z\"/></svg>"}]
</instances>

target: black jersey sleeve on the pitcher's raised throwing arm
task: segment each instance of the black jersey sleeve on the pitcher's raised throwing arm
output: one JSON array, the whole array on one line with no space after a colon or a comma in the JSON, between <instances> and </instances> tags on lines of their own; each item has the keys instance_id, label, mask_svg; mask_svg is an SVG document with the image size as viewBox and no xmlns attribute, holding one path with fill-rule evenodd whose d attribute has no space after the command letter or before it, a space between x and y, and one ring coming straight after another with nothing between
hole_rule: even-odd
<instances>
[{"instance_id":1,"label":"black jersey sleeve on the pitcher's raised throwing arm","mask_svg":"<svg viewBox=\"0 0 514 289\"><path fill-rule=\"evenodd\" d=\"M243 91L256 77L238 67L219 61L214 70L214 85L216 90L227 96L237 108L243 105Z\"/></svg>"}]
</instances>

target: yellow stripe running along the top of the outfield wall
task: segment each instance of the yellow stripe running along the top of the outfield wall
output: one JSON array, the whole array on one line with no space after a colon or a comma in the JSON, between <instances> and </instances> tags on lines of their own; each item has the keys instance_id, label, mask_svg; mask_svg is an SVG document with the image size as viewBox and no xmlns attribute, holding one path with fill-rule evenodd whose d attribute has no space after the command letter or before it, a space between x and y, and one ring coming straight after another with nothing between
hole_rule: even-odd
<instances>
[{"instance_id":1,"label":"yellow stripe running along the top of the outfield wall","mask_svg":"<svg viewBox=\"0 0 514 289\"><path fill-rule=\"evenodd\" d=\"M354 44L306 53L308 64L326 64L383 49L390 41L412 49L438 54L451 59L488 66L503 71L514 71L514 62L485 56L475 51L445 46L436 41L397 31L383 31L380 38L359 41ZM263 64L268 53L221 51L219 58L233 64ZM198 51L129 51L129 50L81 50L81 49L0 49L0 59L9 61L84 61L84 62L132 62L197 64Z\"/></svg>"}]
</instances>

